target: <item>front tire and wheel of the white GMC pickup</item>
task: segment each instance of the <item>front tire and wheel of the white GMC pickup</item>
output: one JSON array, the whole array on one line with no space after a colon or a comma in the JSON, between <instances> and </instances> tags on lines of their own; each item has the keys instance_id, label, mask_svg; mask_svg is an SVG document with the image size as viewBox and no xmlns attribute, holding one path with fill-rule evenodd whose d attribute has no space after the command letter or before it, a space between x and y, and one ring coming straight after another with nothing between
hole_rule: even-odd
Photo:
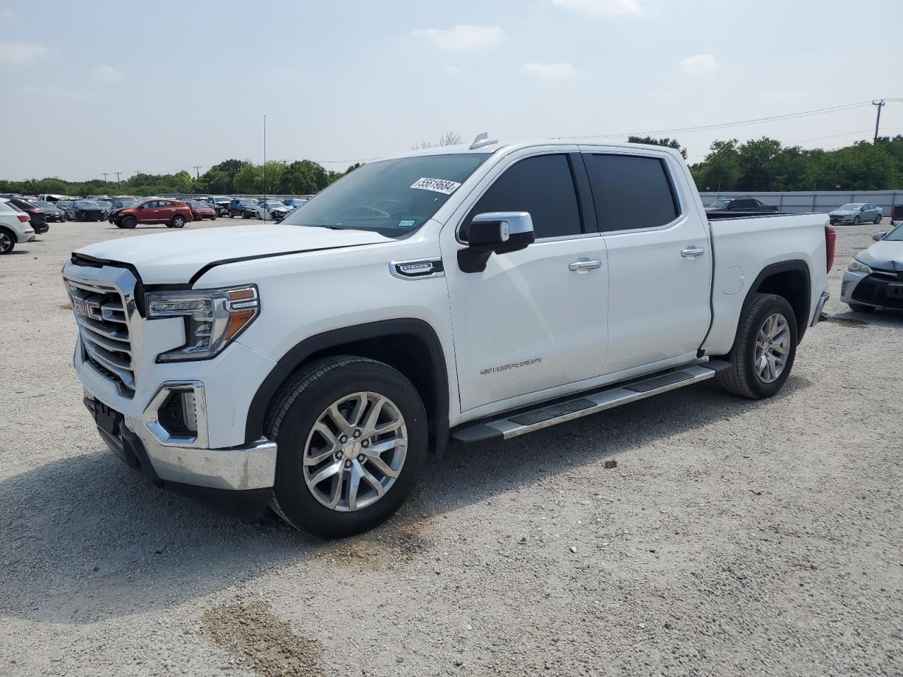
<instances>
[{"instance_id":1,"label":"front tire and wheel of the white GMC pickup","mask_svg":"<svg viewBox=\"0 0 903 677\"><path fill-rule=\"evenodd\" d=\"M426 458L426 412L414 385L364 357L326 357L297 371L271 403L265 431L279 450L275 513L324 537L385 522Z\"/></svg>"}]
</instances>

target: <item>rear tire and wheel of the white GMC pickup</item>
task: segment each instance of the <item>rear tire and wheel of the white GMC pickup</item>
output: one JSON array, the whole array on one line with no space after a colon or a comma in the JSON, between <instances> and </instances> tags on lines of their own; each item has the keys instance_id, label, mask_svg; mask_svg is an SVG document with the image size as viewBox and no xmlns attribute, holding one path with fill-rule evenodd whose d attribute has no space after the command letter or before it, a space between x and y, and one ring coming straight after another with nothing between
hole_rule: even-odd
<instances>
[{"instance_id":1,"label":"rear tire and wheel of the white GMC pickup","mask_svg":"<svg viewBox=\"0 0 903 677\"><path fill-rule=\"evenodd\" d=\"M755 294L740 317L728 357L731 367L718 373L719 382L742 397L771 397L790 376L797 336L796 317L787 299Z\"/></svg>"}]
</instances>

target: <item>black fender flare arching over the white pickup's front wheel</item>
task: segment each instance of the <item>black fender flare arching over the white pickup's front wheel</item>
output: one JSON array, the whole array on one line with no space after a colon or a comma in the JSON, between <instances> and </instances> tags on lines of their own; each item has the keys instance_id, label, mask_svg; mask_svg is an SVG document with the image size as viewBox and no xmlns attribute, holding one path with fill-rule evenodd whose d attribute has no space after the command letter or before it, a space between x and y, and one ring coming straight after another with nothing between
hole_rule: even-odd
<instances>
[{"instance_id":1,"label":"black fender flare arching over the white pickup's front wheel","mask_svg":"<svg viewBox=\"0 0 903 677\"><path fill-rule=\"evenodd\" d=\"M399 318L396 320L380 320L365 324L330 329L321 334L305 338L281 357L266 375L263 383L257 388L254 398L247 410L245 422L245 441L253 444L264 434L264 422L270 402L276 392L284 384L285 379L303 364L308 358L322 350L335 348L345 343L381 338L399 334L413 335L420 339L427 349L432 365L430 382L433 384L433 412L430 418L430 435L433 438L433 450L442 455L448 442L449 431L449 381L448 366L442 351L442 342L435 330L424 320L416 318Z\"/></svg>"}]
</instances>

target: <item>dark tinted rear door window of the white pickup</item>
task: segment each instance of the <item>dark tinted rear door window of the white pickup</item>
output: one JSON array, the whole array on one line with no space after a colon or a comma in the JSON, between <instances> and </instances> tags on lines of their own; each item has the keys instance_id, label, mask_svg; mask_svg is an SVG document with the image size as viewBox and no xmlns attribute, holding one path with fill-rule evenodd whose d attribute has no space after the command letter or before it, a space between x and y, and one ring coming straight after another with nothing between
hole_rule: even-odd
<instances>
[{"instance_id":1,"label":"dark tinted rear door window of the white pickup","mask_svg":"<svg viewBox=\"0 0 903 677\"><path fill-rule=\"evenodd\" d=\"M584 159L600 230L654 228L677 218L664 160L606 154Z\"/></svg>"}]
</instances>

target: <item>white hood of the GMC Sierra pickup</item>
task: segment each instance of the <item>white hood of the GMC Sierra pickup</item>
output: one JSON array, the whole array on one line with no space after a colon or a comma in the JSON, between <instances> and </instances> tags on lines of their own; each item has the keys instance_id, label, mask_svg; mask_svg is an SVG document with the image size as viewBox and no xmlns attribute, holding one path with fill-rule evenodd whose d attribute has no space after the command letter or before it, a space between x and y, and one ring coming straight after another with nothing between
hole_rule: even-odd
<instances>
[{"instance_id":1,"label":"white hood of the GMC Sierra pickup","mask_svg":"<svg viewBox=\"0 0 903 677\"><path fill-rule=\"evenodd\" d=\"M269 224L124 237L84 246L75 253L134 265L144 284L179 284L188 283L201 268L217 261L386 242L395 240L366 230Z\"/></svg>"}]
</instances>

